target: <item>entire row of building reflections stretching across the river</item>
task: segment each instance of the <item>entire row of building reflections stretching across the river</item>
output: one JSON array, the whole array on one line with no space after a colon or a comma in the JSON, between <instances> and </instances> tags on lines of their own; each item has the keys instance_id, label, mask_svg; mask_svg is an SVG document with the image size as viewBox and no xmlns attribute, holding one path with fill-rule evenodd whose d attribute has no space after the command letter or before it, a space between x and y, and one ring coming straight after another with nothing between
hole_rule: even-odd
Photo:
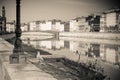
<instances>
[{"instance_id":1,"label":"entire row of building reflections stretching across the river","mask_svg":"<svg viewBox=\"0 0 120 80\"><path fill-rule=\"evenodd\" d=\"M23 41L25 44L31 45L34 48L46 48L50 50L67 49L74 53L78 51L81 57L97 58L102 61L112 64L120 63L120 45L113 44L95 44L80 41L66 40L30 40L29 38ZM65 53L65 52L64 52Z\"/></svg>"}]
</instances>

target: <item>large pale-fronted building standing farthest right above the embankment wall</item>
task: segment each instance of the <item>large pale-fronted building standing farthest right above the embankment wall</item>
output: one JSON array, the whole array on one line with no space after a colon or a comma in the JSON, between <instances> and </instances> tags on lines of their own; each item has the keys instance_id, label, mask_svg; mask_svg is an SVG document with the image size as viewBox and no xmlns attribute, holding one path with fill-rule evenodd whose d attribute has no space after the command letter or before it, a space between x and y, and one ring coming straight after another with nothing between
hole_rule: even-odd
<instances>
[{"instance_id":1,"label":"large pale-fronted building standing farthest right above the embankment wall","mask_svg":"<svg viewBox=\"0 0 120 80\"><path fill-rule=\"evenodd\" d=\"M110 9L101 14L100 32L120 31L120 9Z\"/></svg>"}]
</instances>

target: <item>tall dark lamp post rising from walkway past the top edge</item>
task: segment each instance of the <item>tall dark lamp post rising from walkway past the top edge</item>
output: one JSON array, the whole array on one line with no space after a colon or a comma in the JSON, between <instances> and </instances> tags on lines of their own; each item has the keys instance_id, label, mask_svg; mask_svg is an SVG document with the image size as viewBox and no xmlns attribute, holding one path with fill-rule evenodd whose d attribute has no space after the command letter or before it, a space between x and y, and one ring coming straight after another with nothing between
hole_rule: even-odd
<instances>
[{"instance_id":1,"label":"tall dark lamp post rising from walkway past the top edge","mask_svg":"<svg viewBox=\"0 0 120 80\"><path fill-rule=\"evenodd\" d=\"M16 28L15 28L15 43L13 54L10 55L10 63L19 63L20 55L22 55L22 40L21 40L21 25L20 25L20 1L16 0Z\"/></svg>"}]
</instances>

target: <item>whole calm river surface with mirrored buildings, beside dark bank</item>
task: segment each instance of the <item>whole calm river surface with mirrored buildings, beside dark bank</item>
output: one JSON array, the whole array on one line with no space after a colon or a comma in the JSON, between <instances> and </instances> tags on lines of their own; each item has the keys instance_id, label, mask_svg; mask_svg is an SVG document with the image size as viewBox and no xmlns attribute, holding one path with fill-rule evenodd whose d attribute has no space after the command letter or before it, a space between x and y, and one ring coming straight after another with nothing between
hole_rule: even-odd
<instances>
[{"instance_id":1,"label":"whole calm river surface with mirrored buildings, beside dark bank","mask_svg":"<svg viewBox=\"0 0 120 80\"><path fill-rule=\"evenodd\" d=\"M40 39L39 39L40 37ZM36 49L49 51L83 63L95 63L103 68L111 78L116 79L120 73L120 41L102 39L84 39L60 37L59 39L26 37L23 43ZM114 76L113 76L114 75ZM118 79L118 78L117 78Z\"/></svg>"}]
</instances>

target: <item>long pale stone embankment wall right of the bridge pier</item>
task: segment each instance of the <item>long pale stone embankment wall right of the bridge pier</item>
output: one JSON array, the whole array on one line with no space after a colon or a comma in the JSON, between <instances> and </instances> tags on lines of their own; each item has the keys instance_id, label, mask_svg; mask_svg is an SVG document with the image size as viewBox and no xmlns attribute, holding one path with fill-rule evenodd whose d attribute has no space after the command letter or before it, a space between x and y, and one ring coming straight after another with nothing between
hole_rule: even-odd
<instances>
[{"instance_id":1,"label":"long pale stone embankment wall right of the bridge pier","mask_svg":"<svg viewBox=\"0 0 120 80\"><path fill-rule=\"evenodd\" d=\"M60 37L78 37L95 39L120 40L120 33L100 33L100 32L60 32Z\"/></svg>"}]
</instances>

